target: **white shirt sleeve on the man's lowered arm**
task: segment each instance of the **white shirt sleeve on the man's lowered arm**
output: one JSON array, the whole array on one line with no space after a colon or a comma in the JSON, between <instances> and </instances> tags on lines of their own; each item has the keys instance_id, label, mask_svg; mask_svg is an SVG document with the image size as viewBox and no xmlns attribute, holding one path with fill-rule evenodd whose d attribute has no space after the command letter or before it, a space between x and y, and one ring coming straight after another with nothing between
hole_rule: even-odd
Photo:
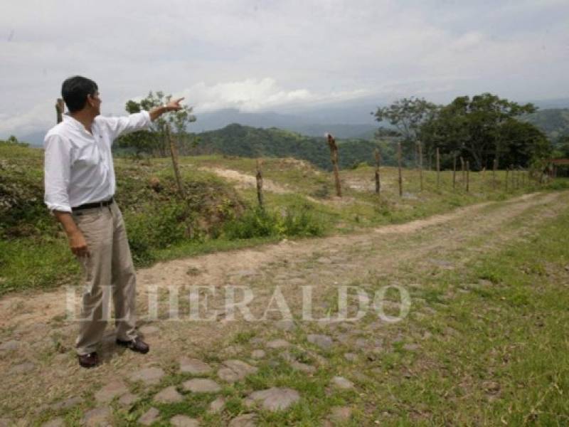
<instances>
[{"instance_id":1,"label":"white shirt sleeve on the man's lowered arm","mask_svg":"<svg viewBox=\"0 0 569 427\"><path fill-rule=\"evenodd\" d=\"M60 135L47 135L43 141L44 201L50 211L71 212L68 186L71 175L71 145Z\"/></svg>"}]
</instances>

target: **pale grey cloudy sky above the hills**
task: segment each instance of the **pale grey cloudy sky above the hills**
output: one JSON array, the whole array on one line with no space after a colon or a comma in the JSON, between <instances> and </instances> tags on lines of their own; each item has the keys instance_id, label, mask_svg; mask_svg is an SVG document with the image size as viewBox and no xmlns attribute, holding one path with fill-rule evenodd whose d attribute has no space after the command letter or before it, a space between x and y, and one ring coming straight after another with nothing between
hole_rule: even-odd
<instances>
[{"instance_id":1,"label":"pale grey cloudy sky above the hills","mask_svg":"<svg viewBox=\"0 0 569 427\"><path fill-rule=\"evenodd\" d=\"M149 90L185 96L197 115L360 97L569 97L568 0L0 4L0 137L53 125L75 74L98 83L104 114Z\"/></svg>"}]
</instances>

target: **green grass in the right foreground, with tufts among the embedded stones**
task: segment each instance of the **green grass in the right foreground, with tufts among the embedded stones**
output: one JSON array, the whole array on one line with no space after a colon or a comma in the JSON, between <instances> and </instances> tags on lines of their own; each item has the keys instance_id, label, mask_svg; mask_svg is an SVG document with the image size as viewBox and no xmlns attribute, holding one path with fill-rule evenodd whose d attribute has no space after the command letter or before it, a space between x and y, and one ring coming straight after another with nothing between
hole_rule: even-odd
<instances>
[{"instance_id":1,"label":"green grass in the right foreground, with tufts among the embedded stones","mask_svg":"<svg viewBox=\"0 0 569 427\"><path fill-rule=\"evenodd\" d=\"M505 227L524 230L533 214L530 209ZM480 251L447 273L437 270L425 275L404 265L398 269L400 273L390 280L420 285L410 289L410 317L389 327L403 340L428 332L430 337L423 335L419 349L406 349L405 341L394 342L381 357L348 362L346 348L338 345L324 351L326 363L310 375L278 362L278 357L263 360L259 371L244 382L223 386L220 394L226 404L221 415L208 413L208 404L216 397L208 394L187 394L184 402L176 404L152 401L164 386L177 386L189 377L170 374L160 386L139 390L143 396L139 404L129 412L117 411L115 425L132 425L152 406L160 411L156 425L166 425L180 413L201 418L203 426L225 425L228 418L250 412L243 404L248 391L282 386L299 391L302 400L287 411L257 411L258 425L321 426L335 406L349 406L351 419L335 426L565 426L569 422L565 397L569 209L524 232L523 238L514 238L505 248ZM472 242L472 246L482 244ZM381 286L381 278L374 283ZM427 308L429 315L415 316ZM373 316L368 320L373 321ZM306 342L308 332L294 330L287 339L317 350ZM259 345L251 342L252 337L255 332L241 332L233 344L247 354ZM221 359L211 354L206 360ZM314 360L309 357L306 362ZM357 391L331 391L331 377L339 373L355 377ZM80 412L70 411L67 418L77 422Z\"/></svg>"}]
</instances>

